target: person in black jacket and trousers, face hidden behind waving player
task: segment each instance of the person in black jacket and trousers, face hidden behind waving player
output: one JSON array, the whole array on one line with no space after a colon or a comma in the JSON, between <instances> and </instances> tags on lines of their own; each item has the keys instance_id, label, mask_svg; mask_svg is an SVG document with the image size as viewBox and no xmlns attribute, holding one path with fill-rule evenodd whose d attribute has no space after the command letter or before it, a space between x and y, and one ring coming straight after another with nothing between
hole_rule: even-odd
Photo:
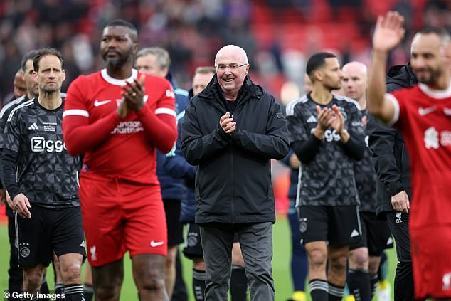
<instances>
[{"instance_id":1,"label":"person in black jacket and trousers, face hidden behind waving player","mask_svg":"<svg viewBox=\"0 0 451 301\"><path fill-rule=\"evenodd\" d=\"M397 65L388 70L387 92L416 85L417 78L410 65ZM394 300L413 300L412 259L410 257L409 214L410 161L403 136L393 127L384 127L374 120L368 122L369 147L376 169L376 216L386 218L396 241Z\"/></svg>"}]
</instances>

